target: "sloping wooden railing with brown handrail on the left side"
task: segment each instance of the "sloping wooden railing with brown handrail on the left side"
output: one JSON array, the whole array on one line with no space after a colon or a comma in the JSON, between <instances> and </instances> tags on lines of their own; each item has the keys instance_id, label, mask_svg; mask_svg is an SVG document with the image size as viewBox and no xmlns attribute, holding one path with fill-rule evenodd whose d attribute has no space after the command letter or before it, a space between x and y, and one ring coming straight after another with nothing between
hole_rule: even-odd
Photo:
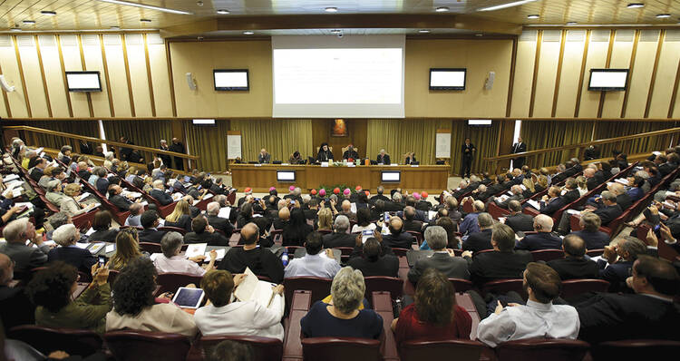
<instances>
[{"instance_id":1,"label":"sloping wooden railing with brown handrail on the left side","mask_svg":"<svg viewBox=\"0 0 680 361\"><path fill-rule=\"evenodd\" d=\"M150 147L144 147L141 145L132 145L132 144L126 144L126 143L121 143L120 141L108 141L100 138L93 138L93 137L87 137L84 135L77 135L77 134L72 134L68 132L57 132L57 131L51 131L49 129L43 129L43 128L35 128L35 127L30 127L27 125L9 125L9 126L4 126L3 130L5 131L16 131L16 132L34 132L34 133L40 133L40 134L47 134L47 135L54 135L58 137L63 137L66 139L70 140L76 140L74 143L75 148L73 149L74 153L81 153L80 149L80 142L79 141L89 141L92 143L102 143L106 145L112 145L115 147L113 151L115 151L116 158L121 159L121 149L122 148L129 148L133 150L139 150L142 155L144 155L145 160L151 160L153 157L155 157L156 154L166 154L170 155L171 157L177 157L181 158L182 161L184 162L184 169L186 171L189 171L189 161L197 161L199 160L199 156L197 155L189 155L189 154L183 154L183 153L178 153L175 151L161 151L160 149L156 148L150 148ZM29 134L20 134L20 138L22 138L24 141L28 141L31 139L31 137L28 136ZM31 145L37 145L41 146L41 144L31 144ZM146 155L148 153L151 153L151 157L147 157ZM172 168L172 167L168 167Z\"/></svg>"}]
</instances>

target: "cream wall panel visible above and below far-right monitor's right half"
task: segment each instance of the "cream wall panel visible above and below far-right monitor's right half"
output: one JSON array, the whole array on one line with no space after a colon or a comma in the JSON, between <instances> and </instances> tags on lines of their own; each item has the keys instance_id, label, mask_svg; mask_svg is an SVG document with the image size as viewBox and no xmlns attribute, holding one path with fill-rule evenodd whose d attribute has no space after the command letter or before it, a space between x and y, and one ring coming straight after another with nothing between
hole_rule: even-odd
<instances>
[{"instance_id":1,"label":"cream wall panel visible above and below far-right monitor's right half","mask_svg":"<svg viewBox=\"0 0 680 361\"><path fill-rule=\"evenodd\" d=\"M612 44L612 52L607 68L627 69L635 47L635 30L618 29ZM606 92L602 97L602 112L598 118L616 118L621 114L626 92Z\"/></svg>"}]
</instances>

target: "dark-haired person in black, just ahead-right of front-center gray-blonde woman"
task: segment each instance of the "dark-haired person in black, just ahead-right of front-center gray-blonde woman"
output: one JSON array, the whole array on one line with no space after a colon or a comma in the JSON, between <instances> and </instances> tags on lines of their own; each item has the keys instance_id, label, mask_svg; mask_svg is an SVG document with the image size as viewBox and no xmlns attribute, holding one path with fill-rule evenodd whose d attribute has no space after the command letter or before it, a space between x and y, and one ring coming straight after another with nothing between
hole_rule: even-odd
<instances>
[{"instance_id":1,"label":"dark-haired person in black, just ahead-right of front-center gray-blonde woman","mask_svg":"<svg viewBox=\"0 0 680 361\"><path fill-rule=\"evenodd\" d=\"M378 239L366 239L363 255L355 255L349 259L347 265L360 270L364 277L399 277L399 259L393 254L381 256L381 249Z\"/></svg>"}]
</instances>

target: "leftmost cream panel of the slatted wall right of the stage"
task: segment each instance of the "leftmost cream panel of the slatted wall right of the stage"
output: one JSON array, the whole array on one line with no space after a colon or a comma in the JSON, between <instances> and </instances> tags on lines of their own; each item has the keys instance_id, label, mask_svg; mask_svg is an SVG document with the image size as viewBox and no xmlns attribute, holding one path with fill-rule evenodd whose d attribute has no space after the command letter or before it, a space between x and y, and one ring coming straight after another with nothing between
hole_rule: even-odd
<instances>
[{"instance_id":1,"label":"leftmost cream panel of the slatted wall right of the stage","mask_svg":"<svg viewBox=\"0 0 680 361\"><path fill-rule=\"evenodd\" d=\"M536 59L538 32L525 30L517 44L517 68L512 87L510 117L524 118L529 115L529 99Z\"/></svg>"}]
</instances>

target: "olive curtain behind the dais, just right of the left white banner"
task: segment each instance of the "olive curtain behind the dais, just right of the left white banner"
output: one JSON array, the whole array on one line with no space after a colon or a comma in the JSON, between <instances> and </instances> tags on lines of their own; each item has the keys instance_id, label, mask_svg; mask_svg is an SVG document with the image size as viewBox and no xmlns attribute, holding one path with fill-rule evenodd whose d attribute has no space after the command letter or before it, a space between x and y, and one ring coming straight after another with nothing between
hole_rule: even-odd
<instances>
[{"instance_id":1,"label":"olive curtain behind the dais, just right of the left white banner","mask_svg":"<svg viewBox=\"0 0 680 361\"><path fill-rule=\"evenodd\" d=\"M241 132L241 159L257 161L257 153L264 148L271 154L272 161L287 162L294 151L303 158L316 157L316 146L312 144L311 120L262 120L230 121L231 131ZM342 154L335 155L335 158Z\"/></svg>"}]
</instances>

